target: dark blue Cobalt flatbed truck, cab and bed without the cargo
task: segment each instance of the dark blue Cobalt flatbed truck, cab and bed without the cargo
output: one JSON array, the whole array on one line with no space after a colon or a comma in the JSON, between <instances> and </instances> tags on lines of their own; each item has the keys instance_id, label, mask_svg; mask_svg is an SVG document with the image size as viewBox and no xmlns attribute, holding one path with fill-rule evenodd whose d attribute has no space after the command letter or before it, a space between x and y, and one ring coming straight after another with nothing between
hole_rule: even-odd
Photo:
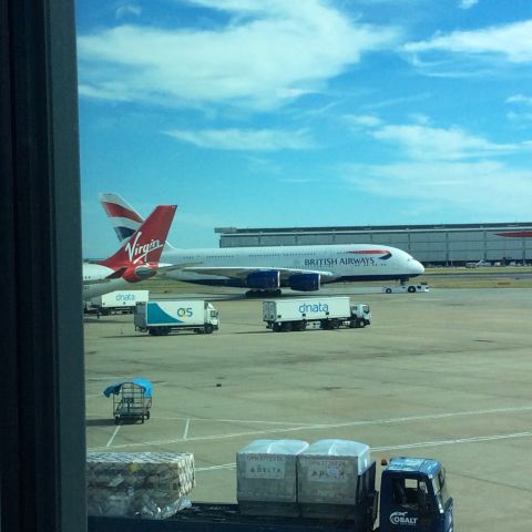
<instances>
[{"instance_id":1,"label":"dark blue Cobalt flatbed truck, cab and bed without the cargo","mask_svg":"<svg viewBox=\"0 0 532 532\"><path fill-rule=\"evenodd\" d=\"M439 461L392 458L381 473L380 509L375 480L372 462L358 482L349 519L243 515L238 504L193 503L163 521L89 518L89 532L453 532L453 500Z\"/></svg>"}]
</instances>

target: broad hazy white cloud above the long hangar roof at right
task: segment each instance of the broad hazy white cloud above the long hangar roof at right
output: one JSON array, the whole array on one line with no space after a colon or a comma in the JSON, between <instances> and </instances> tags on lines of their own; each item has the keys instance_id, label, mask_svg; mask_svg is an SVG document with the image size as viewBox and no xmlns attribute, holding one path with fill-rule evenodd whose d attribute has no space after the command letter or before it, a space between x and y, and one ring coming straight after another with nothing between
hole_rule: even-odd
<instances>
[{"instance_id":1,"label":"broad hazy white cloud above the long hangar roof at right","mask_svg":"<svg viewBox=\"0 0 532 532\"><path fill-rule=\"evenodd\" d=\"M351 186L382 197L431 202L438 209L466 208L489 219L509 212L515 219L530 217L532 171L499 158L528 153L532 142L498 144L459 127L422 124L381 124L368 134L391 144L396 160L349 166L344 175Z\"/></svg>"}]
</instances>

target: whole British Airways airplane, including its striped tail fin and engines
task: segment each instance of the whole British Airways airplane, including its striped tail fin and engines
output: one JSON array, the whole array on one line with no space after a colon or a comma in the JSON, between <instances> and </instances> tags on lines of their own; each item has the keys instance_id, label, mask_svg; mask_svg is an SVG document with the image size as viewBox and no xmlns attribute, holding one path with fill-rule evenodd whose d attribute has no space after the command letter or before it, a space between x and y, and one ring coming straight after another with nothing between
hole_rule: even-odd
<instances>
[{"instance_id":1,"label":"whole British Airways airplane, including its striped tail fin and engines","mask_svg":"<svg viewBox=\"0 0 532 532\"><path fill-rule=\"evenodd\" d=\"M126 242L142 217L117 194L102 193L100 201L119 239ZM402 249L377 244L178 249L166 243L162 257L181 265L167 274L170 278L250 288L248 297L279 296L280 288L315 291L323 284L338 282L406 282L424 272Z\"/></svg>"}]
</instances>

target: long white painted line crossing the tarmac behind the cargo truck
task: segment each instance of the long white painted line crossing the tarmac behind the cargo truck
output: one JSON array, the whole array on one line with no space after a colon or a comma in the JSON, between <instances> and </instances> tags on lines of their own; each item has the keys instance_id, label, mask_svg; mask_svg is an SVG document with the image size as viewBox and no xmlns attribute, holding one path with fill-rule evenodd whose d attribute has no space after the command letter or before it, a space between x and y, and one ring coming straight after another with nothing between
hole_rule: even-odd
<instances>
[{"instance_id":1,"label":"long white painted line crossing the tarmac behind the cargo truck","mask_svg":"<svg viewBox=\"0 0 532 532\"><path fill-rule=\"evenodd\" d=\"M444 413L428 413L422 416L409 416L400 418L387 418L387 419L375 419L375 420L362 420L362 421L347 421L342 423L314 423L305 424L301 423L296 427L287 428L273 428L273 429L262 429L262 430L250 430L245 432L228 432L225 434L207 434L207 436L196 436L192 438L174 438L167 440L154 440L154 441L144 441L135 443L123 443L113 446L114 449L126 449L134 447L156 447L156 446L166 446L170 443L181 443L184 441L208 441L208 440L224 440L229 438L239 438L244 436L260 436L260 434L272 434L272 433L284 433L284 432L295 432L299 430L320 430L320 429L334 429L334 428L345 428L345 427L361 427L370 424L390 424L390 423L405 423L411 421L424 421L424 420L434 420L434 419L444 419L444 418L457 418L457 417L467 417L467 416L483 416L483 415L493 415L493 413L508 413L508 412L523 412L531 411L532 406L525 407L513 407L513 408L494 408L494 409L484 409L484 410L466 410L459 412L444 412ZM194 418L190 418L194 419ZM239 420L235 422L248 422ZM106 447L110 447L109 443ZM102 447L94 447L90 450L101 450ZM105 448L103 448L105 449Z\"/></svg>"}]
</instances>

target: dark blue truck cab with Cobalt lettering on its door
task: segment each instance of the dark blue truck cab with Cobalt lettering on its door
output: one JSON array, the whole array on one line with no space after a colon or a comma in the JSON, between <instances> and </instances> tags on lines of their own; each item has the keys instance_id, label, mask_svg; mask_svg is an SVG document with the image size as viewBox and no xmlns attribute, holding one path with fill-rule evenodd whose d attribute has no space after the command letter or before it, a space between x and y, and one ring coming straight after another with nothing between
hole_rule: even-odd
<instances>
[{"instance_id":1,"label":"dark blue truck cab with Cobalt lettering on its door","mask_svg":"<svg viewBox=\"0 0 532 532\"><path fill-rule=\"evenodd\" d=\"M392 458L382 471L380 532L452 532L453 501L438 460Z\"/></svg>"}]
</instances>

